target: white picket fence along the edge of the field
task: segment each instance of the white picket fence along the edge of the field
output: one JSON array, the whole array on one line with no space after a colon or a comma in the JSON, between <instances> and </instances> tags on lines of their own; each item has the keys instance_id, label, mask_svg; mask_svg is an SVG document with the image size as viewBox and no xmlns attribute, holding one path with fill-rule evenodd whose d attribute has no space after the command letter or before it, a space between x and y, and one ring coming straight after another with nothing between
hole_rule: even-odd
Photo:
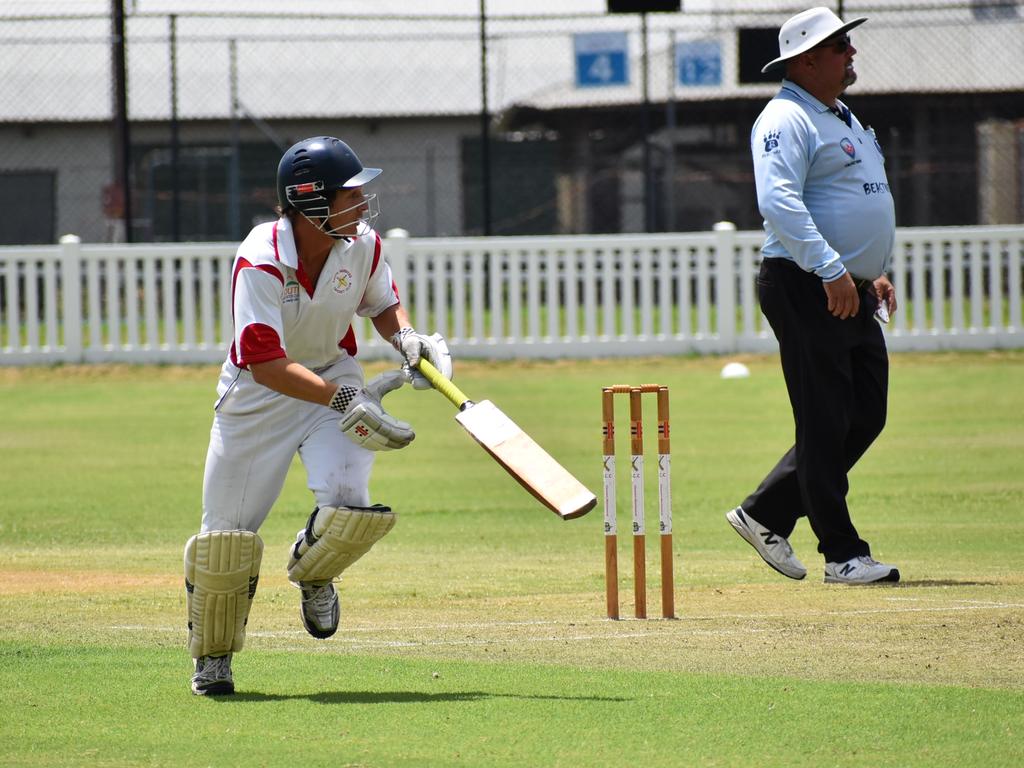
<instances>
[{"instance_id":1,"label":"white picket fence along the edge of the field","mask_svg":"<svg viewBox=\"0 0 1024 768\"><path fill-rule=\"evenodd\" d=\"M417 328L461 357L771 351L762 233L388 238ZM234 244L0 248L0 365L216 362ZM901 228L889 346L1024 347L1024 226ZM393 354L368 321L359 356Z\"/></svg>"}]
</instances>

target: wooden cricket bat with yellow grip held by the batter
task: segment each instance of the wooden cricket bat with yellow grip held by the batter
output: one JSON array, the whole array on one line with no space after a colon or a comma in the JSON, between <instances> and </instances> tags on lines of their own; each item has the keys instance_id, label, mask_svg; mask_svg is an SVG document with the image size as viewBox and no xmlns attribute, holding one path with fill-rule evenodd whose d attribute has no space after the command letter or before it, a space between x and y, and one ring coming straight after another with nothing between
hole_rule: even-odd
<instances>
[{"instance_id":1,"label":"wooden cricket bat with yellow grip held by the batter","mask_svg":"<svg viewBox=\"0 0 1024 768\"><path fill-rule=\"evenodd\" d=\"M544 506L569 520L582 517L597 505L596 496L495 403L473 402L425 358L420 359L419 369L431 386L459 409L455 420Z\"/></svg>"}]
</instances>

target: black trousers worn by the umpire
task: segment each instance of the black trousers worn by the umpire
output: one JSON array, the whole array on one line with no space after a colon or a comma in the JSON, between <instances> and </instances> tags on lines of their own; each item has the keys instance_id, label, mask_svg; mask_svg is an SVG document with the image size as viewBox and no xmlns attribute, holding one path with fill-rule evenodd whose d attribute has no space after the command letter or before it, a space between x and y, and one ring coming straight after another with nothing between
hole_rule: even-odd
<instances>
[{"instance_id":1,"label":"black trousers worn by the umpire","mask_svg":"<svg viewBox=\"0 0 1024 768\"><path fill-rule=\"evenodd\" d=\"M874 319L878 299L859 288L856 316L828 311L820 278L788 259L767 258L758 274L761 310L778 339L796 442L743 502L762 525L788 538L807 516L826 562L870 549L846 504L847 473L886 423L889 357Z\"/></svg>"}]
</instances>

